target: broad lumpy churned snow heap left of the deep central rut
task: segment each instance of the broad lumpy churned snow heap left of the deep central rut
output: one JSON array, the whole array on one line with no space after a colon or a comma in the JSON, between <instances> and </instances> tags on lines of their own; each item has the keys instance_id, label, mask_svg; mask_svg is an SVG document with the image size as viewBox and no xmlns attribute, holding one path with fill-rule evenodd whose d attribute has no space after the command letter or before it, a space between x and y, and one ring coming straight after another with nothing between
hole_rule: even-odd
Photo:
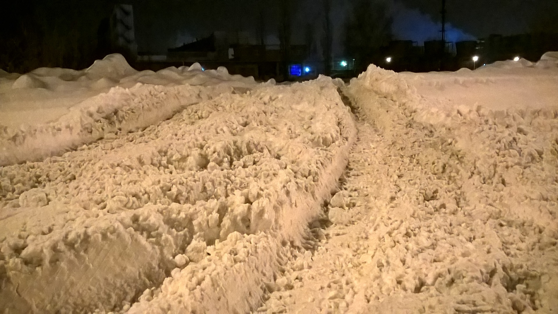
<instances>
[{"instance_id":1,"label":"broad lumpy churned snow heap left of the deep central rut","mask_svg":"<svg viewBox=\"0 0 558 314\"><path fill-rule=\"evenodd\" d=\"M193 88L137 85L118 102L172 105ZM350 112L322 78L223 93L142 131L3 166L0 307L251 311L288 247L304 246L354 138Z\"/></svg>"}]
</instances>

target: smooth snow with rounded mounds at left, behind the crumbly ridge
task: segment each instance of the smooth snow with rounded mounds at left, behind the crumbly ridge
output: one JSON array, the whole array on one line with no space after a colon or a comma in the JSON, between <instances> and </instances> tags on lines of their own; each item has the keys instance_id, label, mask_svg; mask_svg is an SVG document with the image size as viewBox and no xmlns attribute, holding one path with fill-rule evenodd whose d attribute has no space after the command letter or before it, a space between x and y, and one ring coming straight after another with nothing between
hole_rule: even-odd
<instances>
[{"instance_id":1,"label":"smooth snow with rounded mounds at left, behind the crumbly ridge","mask_svg":"<svg viewBox=\"0 0 558 314\"><path fill-rule=\"evenodd\" d=\"M191 71L190 68L192 69ZM252 77L229 75L227 69L194 71L169 67L157 72L136 71L122 55L108 55L85 70L37 68L23 76L0 73L0 126L19 129L54 122L72 106L108 92L112 87L132 88L137 83L177 85L228 85L249 87Z\"/></svg>"}]
</instances>

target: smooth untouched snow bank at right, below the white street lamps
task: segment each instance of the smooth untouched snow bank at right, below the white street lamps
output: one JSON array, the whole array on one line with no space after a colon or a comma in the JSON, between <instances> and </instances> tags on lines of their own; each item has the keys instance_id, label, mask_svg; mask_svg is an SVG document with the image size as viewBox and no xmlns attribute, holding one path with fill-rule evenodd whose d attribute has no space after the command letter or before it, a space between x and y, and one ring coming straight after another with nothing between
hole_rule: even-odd
<instances>
[{"instance_id":1,"label":"smooth untouched snow bank at right, below the white street lamps","mask_svg":"<svg viewBox=\"0 0 558 314\"><path fill-rule=\"evenodd\" d=\"M556 67L494 66L482 71L395 73L370 65L351 84L406 104L417 111L415 119L429 123L451 124L456 112L465 115L481 110L552 111L558 106ZM379 123L391 122L386 119Z\"/></svg>"}]
</instances>

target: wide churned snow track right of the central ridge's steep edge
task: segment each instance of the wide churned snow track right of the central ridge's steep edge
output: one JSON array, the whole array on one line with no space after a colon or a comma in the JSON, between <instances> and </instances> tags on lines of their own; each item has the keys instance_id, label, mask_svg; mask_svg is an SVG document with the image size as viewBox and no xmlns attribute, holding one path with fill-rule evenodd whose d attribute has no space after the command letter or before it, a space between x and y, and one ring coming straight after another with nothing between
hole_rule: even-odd
<instances>
[{"instance_id":1,"label":"wide churned snow track right of the central ridge's steep edge","mask_svg":"<svg viewBox=\"0 0 558 314\"><path fill-rule=\"evenodd\" d=\"M546 173L543 195L523 202L529 218L509 208L506 189L525 192L509 178L499 185L509 160L465 154L450 128L417 122L404 102L355 86L346 92L358 105L359 135L329 204L334 225L316 252L295 253L256 313L556 312L558 129L545 127L556 116L537 115L535 124L549 135L551 171L512 160L526 167L521 184L536 188ZM490 119L470 120L494 131ZM453 131L474 129L460 126ZM484 136L480 147L498 151L497 136Z\"/></svg>"}]
</instances>

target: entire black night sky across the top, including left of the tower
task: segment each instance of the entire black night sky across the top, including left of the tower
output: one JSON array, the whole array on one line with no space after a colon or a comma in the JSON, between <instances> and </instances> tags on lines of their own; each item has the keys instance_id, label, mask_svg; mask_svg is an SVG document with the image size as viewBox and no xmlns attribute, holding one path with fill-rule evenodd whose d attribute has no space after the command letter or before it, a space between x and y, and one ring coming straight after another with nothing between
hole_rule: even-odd
<instances>
[{"instance_id":1,"label":"entire black night sky across the top, including left of the tower","mask_svg":"<svg viewBox=\"0 0 558 314\"><path fill-rule=\"evenodd\" d=\"M293 41L304 43L308 28L314 29L316 38L321 38L321 0L291 1L294 3ZM332 1L334 53L342 53L343 26L354 0ZM395 39L410 39L420 45L424 40L440 37L441 0L386 1L394 18ZM35 15L26 14L33 2ZM42 27L69 23L75 24L79 30L89 27L96 32L99 21L110 14L114 3L107 0L9 2L8 11L4 11L7 18L3 27L10 27L13 18L33 18L43 21ZM248 31L254 34L255 42L259 38L257 30L261 12L266 21L267 43L278 43L278 0L131 0L116 3L133 4L138 51L164 53L169 47L208 36L213 31ZM558 32L556 0L447 0L447 9L449 41L481 38L491 33L523 33L532 29Z\"/></svg>"}]
</instances>

